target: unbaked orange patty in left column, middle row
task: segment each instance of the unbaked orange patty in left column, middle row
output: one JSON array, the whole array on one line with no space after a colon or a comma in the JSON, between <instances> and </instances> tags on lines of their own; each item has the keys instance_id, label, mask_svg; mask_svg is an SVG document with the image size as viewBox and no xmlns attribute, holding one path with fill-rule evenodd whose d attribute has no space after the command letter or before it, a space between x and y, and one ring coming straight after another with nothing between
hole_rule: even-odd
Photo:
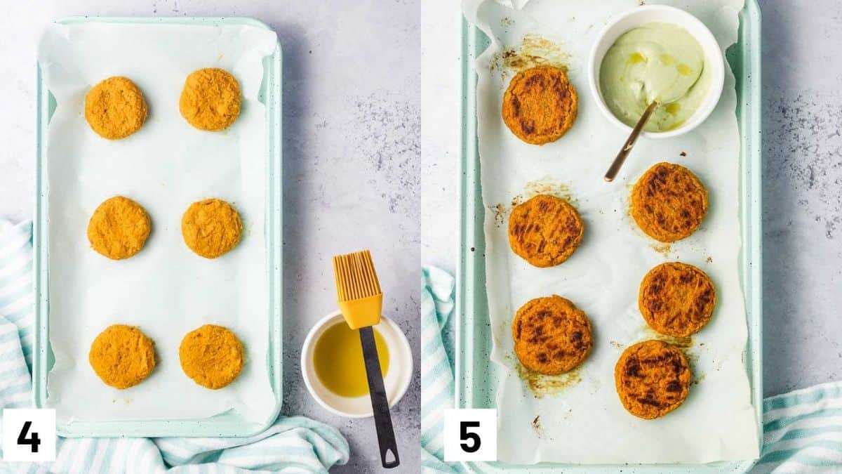
<instances>
[{"instance_id":1,"label":"unbaked orange patty in left column, middle row","mask_svg":"<svg viewBox=\"0 0 842 474\"><path fill-rule=\"evenodd\" d=\"M91 248L112 260L122 260L141 251L152 224L147 211L128 197L106 199L88 221Z\"/></svg>"}]
</instances>

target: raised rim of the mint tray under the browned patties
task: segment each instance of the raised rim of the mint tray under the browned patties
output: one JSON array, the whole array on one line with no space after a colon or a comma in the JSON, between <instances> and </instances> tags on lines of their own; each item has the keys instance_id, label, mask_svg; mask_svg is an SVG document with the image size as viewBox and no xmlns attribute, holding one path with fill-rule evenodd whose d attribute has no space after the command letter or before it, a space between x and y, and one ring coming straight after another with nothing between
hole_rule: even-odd
<instances>
[{"instance_id":1,"label":"raised rim of the mint tray under the browned patties","mask_svg":"<svg viewBox=\"0 0 842 474\"><path fill-rule=\"evenodd\" d=\"M746 0L740 14L739 38L743 42L752 45L752 49L739 50L742 57L739 57L741 73L734 71L737 79L736 89L738 91L737 110L738 118L748 112L743 112L746 105L754 105L753 115L748 116L748 130L744 130L743 121L739 121L740 134L740 218L741 234L743 245L740 249L741 278L743 284L743 299L745 300L746 313L748 317L747 329L749 336L747 340L746 366L749 369L749 383L751 388L751 400L754 405L755 417L758 424L758 437L760 443L763 441L763 348L762 348L762 315L763 315L763 285L762 285L762 188L760 186L762 173L762 149L760 148L760 137L762 133L759 105L761 100L761 55L760 55L760 29L761 13L757 0ZM744 35L744 38L743 38ZM476 73L473 71L473 60L484 38L482 31L474 25L469 24L464 17L461 17L461 77L462 77L462 110L461 110L461 159L459 175L459 205L461 208L459 257L456 262L456 408L473 407L477 399L477 387L472 386L472 367L475 366L473 359L481 347L474 344L472 329L466 329L475 323L475 304L487 304L484 292L475 294L469 285L477 281L477 273L484 281L484 260L480 250L484 250L482 196L478 175L478 147L477 147L477 116L476 116ZM740 40L738 40L738 43ZM737 45L738 43L735 43ZM729 47L728 56L730 57ZM748 94L746 94L748 92ZM470 192L470 196L469 196ZM749 196L746 200L743 197ZM746 225L750 224L750 225ZM477 233L478 229L478 233ZM475 241L474 236L478 235L480 241ZM476 249L476 251L474 250ZM478 270L477 270L478 269ZM479 311L487 309L480 308ZM466 323L466 319L468 323ZM482 324L483 321L480 321ZM466 326L466 324L468 326ZM482 391L482 387L479 388ZM762 449L762 445L761 445ZM657 473L664 469L670 472L746 472L756 463L755 460L715 462L702 465L690 464L650 464L650 465L576 465L562 463L539 463L535 465L510 465L502 462L462 462L461 466L470 472L500 472L520 471L530 474L550 473L557 469L565 472L603 472L606 469L622 467L626 472Z\"/></svg>"}]
</instances>

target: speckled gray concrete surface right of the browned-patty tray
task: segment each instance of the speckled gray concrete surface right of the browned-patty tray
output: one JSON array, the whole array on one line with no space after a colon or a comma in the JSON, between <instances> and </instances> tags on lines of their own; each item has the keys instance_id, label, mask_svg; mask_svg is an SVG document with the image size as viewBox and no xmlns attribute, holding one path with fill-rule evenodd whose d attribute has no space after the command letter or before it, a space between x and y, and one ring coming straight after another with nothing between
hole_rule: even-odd
<instances>
[{"instance_id":1,"label":"speckled gray concrete surface right of the browned-patty tray","mask_svg":"<svg viewBox=\"0 0 842 474\"><path fill-rule=\"evenodd\" d=\"M760 8L769 396L842 379L842 3Z\"/></svg>"}]
</instances>

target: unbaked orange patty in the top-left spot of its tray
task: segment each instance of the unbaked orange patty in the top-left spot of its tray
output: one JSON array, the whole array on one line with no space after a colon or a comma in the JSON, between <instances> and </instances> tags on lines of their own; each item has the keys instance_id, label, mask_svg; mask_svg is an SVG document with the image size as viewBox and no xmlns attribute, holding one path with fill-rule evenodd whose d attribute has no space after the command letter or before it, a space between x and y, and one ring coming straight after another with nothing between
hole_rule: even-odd
<instances>
[{"instance_id":1,"label":"unbaked orange patty in the top-left spot of its tray","mask_svg":"<svg viewBox=\"0 0 842 474\"><path fill-rule=\"evenodd\" d=\"M143 127L147 101L131 79L107 78L85 95L85 120L100 137L125 138Z\"/></svg>"}]
</instances>

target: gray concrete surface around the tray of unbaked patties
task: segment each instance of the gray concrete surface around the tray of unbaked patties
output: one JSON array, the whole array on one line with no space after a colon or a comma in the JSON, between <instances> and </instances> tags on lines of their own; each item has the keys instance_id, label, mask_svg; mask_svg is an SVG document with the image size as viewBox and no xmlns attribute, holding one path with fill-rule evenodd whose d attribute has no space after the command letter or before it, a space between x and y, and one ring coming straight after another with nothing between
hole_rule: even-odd
<instances>
[{"instance_id":1,"label":"gray concrete surface around the tray of unbaked patties","mask_svg":"<svg viewBox=\"0 0 842 474\"><path fill-rule=\"evenodd\" d=\"M419 3L219 0L3 4L0 15L0 218L31 218L35 45L73 14L250 16L284 49L284 409L337 428L351 458L336 472L380 471L371 419L323 410L301 379L306 332L335 309L334 254L370 248L385 312L407 333L416 376L392 411L400 471L418 471Z\"/></svg>"}]
</instances>

